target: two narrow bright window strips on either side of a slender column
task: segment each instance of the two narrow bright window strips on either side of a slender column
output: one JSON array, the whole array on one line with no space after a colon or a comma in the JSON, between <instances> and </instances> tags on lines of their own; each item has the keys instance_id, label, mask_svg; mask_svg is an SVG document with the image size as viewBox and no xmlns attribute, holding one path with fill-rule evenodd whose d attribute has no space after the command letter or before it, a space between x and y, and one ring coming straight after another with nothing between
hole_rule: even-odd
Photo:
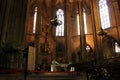
<instances>
[{"instance_id":1,"label":"two narrow bright window strips on either side of a slender column","mask_svg":"<svg viewBox=\"0 0 120 80\"><path fill-rule=\"evenodd\" d=\"M80 20L79 14L77 14L77 28L78 28L78 35L80 35ZM83 20L84 20L84 30L85 34L87 34L87 23L86 23L86 13L83 12Z\"/></svg>"}]
</instances>

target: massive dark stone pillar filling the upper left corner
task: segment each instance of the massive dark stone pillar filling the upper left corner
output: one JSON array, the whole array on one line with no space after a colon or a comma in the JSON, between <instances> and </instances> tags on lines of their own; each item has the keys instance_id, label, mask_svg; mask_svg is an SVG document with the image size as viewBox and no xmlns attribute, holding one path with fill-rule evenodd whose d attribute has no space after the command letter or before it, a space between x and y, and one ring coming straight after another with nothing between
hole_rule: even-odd
<instances>
[{"instance_id":1,"label":"massive dark stone pillar filling the upper left corner","mask_svg":"<svg viewBox=\"0 0 120 80\"><path fill-rule=\"evenodd\" d=\"M0 37L3 42L24 42L27 0L1 1Z\"/></svg>"}]
</instances>

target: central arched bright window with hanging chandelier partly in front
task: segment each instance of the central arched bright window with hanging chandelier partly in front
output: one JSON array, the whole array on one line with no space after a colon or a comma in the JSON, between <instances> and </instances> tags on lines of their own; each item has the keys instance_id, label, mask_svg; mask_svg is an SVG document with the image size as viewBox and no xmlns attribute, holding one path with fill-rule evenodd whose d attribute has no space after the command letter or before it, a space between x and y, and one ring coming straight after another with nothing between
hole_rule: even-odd
<instances>
[{"instance_id":1,"label":"central arched bright window with hanging chandelier partly in front","mask_svg":"<svg viewBox=\"0 0 120 80\"><path fill-rule=\"evenodd\" d=\"M57 19L62 21L61 25L56 27L56 36L64 36L64 12L62 9L58 9L56 12Z\"/></svg>"}]
</instances>

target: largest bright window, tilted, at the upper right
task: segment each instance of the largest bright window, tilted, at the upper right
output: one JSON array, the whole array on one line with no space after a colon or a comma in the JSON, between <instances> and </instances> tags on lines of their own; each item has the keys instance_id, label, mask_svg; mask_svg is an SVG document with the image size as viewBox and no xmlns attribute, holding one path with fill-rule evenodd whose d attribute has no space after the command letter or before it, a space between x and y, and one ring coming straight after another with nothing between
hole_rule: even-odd
<instances>
[{"instance_id":1,"label":"largest bright window, tilted, at the upper right","mask_svg":"<svg viewBox=\"0 0 120 80\"><path fill-rule=\"evenodd\" d=\"M100 20L102 29L106 29L110 27L110 18L107 0L99 0L99 12L100 12Z\"/></svg>"}]
</instances>

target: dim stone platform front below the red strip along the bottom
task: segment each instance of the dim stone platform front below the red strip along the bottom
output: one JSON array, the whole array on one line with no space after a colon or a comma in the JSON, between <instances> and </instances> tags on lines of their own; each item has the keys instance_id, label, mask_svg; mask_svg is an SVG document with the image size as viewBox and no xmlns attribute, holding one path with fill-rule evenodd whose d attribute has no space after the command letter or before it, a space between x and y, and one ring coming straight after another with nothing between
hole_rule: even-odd
<instances>
[{"instance_id":1,"label":"dim stone platform front below the red strip along the bottom","mask_svg":"<svg viewBox=\"0 0 120 80\"><path fill-rule=\"evenodd\" d=\"M28 73L26 76L22 73L0 74L0 80L87 80L86 73L76 72L40 72Z\"/></svg>"}]
</instances>

